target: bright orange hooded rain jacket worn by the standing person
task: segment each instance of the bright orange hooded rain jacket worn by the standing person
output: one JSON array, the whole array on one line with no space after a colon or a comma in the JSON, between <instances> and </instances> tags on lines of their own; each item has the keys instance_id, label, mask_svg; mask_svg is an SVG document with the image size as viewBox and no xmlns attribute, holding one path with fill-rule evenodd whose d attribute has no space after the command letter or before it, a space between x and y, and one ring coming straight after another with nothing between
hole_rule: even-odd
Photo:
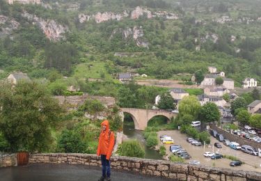
<instances>
[{"instance_id":1,"label":"bright orange hooded rain jacket worn by the standing person","mask_svg":"<svg viewBox=\"0 0 261 181\"><path fill-rule=\"evenodd\" d=\"M106 125L106 130L103 132L103 130L100 133L100 138L99 138L99 144L97 148L97 155L106 155L106 159L110 159L111 157L111 152L113 151L114 147L114 133L110 132L109 129L109 120L104 120L101 123L102 125ZM111 135L109 135L111 133Z\"/></svg>"}]
</instances>

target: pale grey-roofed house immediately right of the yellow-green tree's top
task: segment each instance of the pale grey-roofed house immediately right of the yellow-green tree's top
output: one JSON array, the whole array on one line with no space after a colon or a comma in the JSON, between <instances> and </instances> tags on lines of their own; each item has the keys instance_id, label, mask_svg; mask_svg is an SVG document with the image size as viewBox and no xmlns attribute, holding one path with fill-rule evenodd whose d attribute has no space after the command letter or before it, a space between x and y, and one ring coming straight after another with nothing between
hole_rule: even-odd
<instances>
[{"instance_id":1,"label":"pale grey-roofed house immediately right of the yellow-green tree's top","mask_svg":"<svg viewBox=\"0 0 261 181\"><path fill-rule=\"evenodd\" d=\"M216 104L217 107L225 107L227 105L226 100L223 100L222 97L213 96L213 95L198 95L198 101L200 102L200 105L203 106L207 102L213 102Z\"/></svg>"}]
</instances>

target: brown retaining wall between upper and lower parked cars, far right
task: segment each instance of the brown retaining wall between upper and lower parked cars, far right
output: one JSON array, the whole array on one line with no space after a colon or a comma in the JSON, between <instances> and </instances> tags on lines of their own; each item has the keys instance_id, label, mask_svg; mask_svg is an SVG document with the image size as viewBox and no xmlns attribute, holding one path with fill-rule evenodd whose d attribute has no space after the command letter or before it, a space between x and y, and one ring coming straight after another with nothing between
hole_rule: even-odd
<instances>
[{"instance_id":1,"label":"brown retaining wall between upper and lower parked cars, far right","mask_svg":"<svg viewBox=\"0 0 261 181\"><path fill-rule=\"evenodd\" d=\"M225 130L217 127L216 125L211 124L210 128L216 130L216 132L218 132L219 134L223 134L225 139L228 139L229 141L235 141L235 142L239 143L239 145L251 145L254 148L261 148L260 143L251 141L249 139L245 139L243 137L239 137L235 134L230 134L229 132L226 132Z\"/></svg>"}]
</instances>

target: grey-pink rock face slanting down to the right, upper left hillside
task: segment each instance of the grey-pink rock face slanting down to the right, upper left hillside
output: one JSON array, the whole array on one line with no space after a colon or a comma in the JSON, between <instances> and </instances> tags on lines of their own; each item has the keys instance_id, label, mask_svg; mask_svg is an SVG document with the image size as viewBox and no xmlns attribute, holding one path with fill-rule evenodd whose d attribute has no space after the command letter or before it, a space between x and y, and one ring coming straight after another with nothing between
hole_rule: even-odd
<instances>
[{"instance_id":1,"label":"grey-pink rock face slanting down to the right, upper left hillside","mask_svg":"<svg viewBox=\"0 0 261 181\"><path fill-rule=\"evenodd\" d=\"M42 32L45 33L45 36L49 38L49 40L61 40L64 39L65 36L63 33L68 31L68 26L63 26L61 24L57 24L53 19L42 19L41 17L37 17L35 15L31 15L29 13L23 13L23 17L29 19L29 21L33 22L42 29Z\"/></svg>"}]
</instances>

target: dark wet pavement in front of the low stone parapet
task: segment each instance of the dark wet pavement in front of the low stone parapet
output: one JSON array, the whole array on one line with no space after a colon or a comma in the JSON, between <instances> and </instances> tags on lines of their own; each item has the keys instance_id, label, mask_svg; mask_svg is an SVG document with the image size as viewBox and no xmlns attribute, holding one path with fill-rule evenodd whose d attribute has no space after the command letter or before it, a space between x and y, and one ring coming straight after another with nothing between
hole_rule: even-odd
<instances>
[{"instance_id":1,"label":"dark wet pavement in front of the low stone parapet","mask_svg":"<svg viewBox=\"0 0 261 181\"><path fill-rule=\"evenodd\" d=\"M82 165L30 164L28 166L0 168L1 181L97 181L100 176L101 168ZM164 181L167 179L112 170L111 180Z\"/></svg>"}]
</instances>

